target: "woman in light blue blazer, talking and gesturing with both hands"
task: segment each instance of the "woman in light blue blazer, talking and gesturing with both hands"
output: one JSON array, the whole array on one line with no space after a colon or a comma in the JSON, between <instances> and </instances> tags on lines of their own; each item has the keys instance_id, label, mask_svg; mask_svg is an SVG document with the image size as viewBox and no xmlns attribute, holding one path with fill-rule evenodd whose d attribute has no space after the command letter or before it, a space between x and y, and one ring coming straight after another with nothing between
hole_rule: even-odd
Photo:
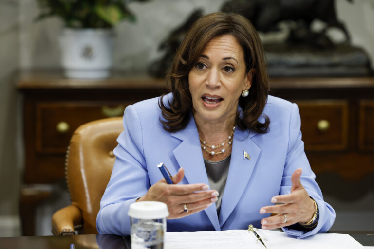
<instances>
[{"instance_id":1,"label":"woman in light blue blazer, talking and gesturing with both hands","mask_svg":"<svg viewBox=\"0 0 374 249\"><path fill-rule=\"evenodd\" d=\"M262 44L247 19L213 13L195 22L170 83L171 93L125 110L100 233L129 234L129 206L144 200L168 205L168 231L253 224L303 238L330 229L335 212L305 156L298 107L268 96Z\"/></svg>"}]
</instances>

